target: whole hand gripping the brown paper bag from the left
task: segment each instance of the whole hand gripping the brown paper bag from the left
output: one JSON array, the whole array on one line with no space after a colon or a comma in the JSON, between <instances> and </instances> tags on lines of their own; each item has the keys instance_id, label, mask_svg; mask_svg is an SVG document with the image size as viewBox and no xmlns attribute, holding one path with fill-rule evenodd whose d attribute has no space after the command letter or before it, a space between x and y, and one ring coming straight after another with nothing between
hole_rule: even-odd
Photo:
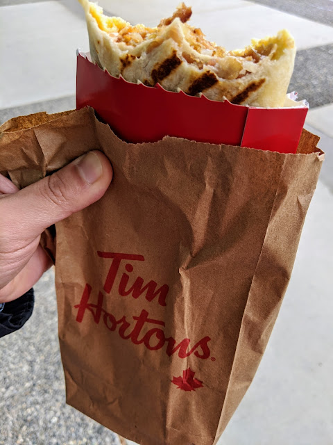
<instances>
[{"instance_id":1,"label":"whole hand gripping the brown paper bag from the left","mask_svg":"<svg viewBox=\"0 0 333 445\"><path fill-rule=\"evenodd\" d=\"M44 229L99 200L111 180L111 164L97 151L22 190L0 175L0 303L22 296L51 266Z\"/></svg>"}]
</instances>

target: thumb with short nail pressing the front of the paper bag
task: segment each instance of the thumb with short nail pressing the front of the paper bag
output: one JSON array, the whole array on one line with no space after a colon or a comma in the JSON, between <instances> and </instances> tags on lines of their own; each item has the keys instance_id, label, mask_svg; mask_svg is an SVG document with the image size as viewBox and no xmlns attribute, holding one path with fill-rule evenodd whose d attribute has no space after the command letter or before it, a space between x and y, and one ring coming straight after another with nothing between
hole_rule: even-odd
<instances>
[{"instance_id":1,"label":"thumb with short nail pressing the front of the paper bag","mask_svg":"<svg viewBox=\"0 0 333 445\"><path fill-rule=\"evenodd\" d=\"M15 238L38 236L46 227L99 200L111 180L108 158L101 152L89 152L53 175L3 197L0 219L12 228Z\"/></svg>"}]
</instances>

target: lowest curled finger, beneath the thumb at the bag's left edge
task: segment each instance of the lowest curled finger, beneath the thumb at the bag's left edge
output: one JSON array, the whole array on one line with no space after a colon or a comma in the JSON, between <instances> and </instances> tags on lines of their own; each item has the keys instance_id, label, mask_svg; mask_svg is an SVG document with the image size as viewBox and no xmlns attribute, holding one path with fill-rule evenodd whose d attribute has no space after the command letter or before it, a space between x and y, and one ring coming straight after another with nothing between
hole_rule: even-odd
<instances>
[{"instance_id":1,"label":"lowest curled finger, beneath the thumb at the bag's left edge","mask_svg":"<svg viewBox=\"0 0 333 445\"><path fill-rule=\"evenodd\" d=\"M31 289L43 273L52 266L51 258L41 245L33 253L24 268L2 289L0 289L0 302L8 302L19 298Z\"/></svg>"}]
</instances>

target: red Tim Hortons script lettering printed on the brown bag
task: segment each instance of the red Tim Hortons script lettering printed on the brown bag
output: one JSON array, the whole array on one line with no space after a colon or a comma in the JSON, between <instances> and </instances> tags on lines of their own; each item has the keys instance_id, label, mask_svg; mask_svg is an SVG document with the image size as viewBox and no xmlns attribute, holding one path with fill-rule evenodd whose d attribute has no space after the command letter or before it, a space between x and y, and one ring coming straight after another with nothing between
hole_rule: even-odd
<instances>
[{"instance_id":1,"label":"red Tim Hortons script lettering printed on the brown bag","mask_svg":"<svg viewBox=\"0 0 333 445\"><path fill-rule=\"evenodd\" d=\"M210 357L210 348L208 347L210 337L203 337L195 344L187 338L179 341L173 337L167 337L163 330L165 327L164 321L151 318L145 309L142 309L139 315L127 316L127 318L125 315L118 318L111 312L106 311L103 302L107 298L106 295L110 294L111 291L113 293L117 292L120 298L145 298L148 302L155 302L162 307L167 306L169 286L167 284L158 286L157 282L153 280L145 284L142 277L135 277L135 274L128 275L133 273L133 263L135 261L144 261L142 255L112 252L97 252L97 254L101 258L111 261L110 268L103 291L98 291L94 302L92 302L92 294L94 293L92 286L89 283L85 284L80 303L74 306L78 309L76 315L78 323L82 323L83 318L87 314L91 314L94 323L97 325L103 323L106 329L117 332L121 339L130 340L135 345L143 344L149 350L164 348L164 352L169 357L177 353L181 359L185 359L192 354L200 359ZM94 295L96 294L94 293Z\"/></svg>"}]
</instances>

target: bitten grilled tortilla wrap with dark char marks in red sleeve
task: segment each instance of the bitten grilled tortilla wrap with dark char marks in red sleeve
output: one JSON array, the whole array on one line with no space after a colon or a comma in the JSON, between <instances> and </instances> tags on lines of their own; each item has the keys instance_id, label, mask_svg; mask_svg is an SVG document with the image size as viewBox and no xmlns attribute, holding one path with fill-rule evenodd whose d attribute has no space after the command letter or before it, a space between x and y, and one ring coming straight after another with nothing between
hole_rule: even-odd
<instances>
[{"instance_id":1,"label":"bitten grilled tortilla wrap with dark char marks in red sleeve","mask_svg":"<svg viewBox=\"0 0 333 445\"><path fill-rule=\"evenodd\" d=\"M284 106L293 72L295 42L287 30L252 40L245 49L226 51L187 23L182 3L155 28L131 26L120 17L79 0L85 10L92 61L112 76L169 91L200 93L208 99L259 107Z\"/></svg>"}]
</instances>

